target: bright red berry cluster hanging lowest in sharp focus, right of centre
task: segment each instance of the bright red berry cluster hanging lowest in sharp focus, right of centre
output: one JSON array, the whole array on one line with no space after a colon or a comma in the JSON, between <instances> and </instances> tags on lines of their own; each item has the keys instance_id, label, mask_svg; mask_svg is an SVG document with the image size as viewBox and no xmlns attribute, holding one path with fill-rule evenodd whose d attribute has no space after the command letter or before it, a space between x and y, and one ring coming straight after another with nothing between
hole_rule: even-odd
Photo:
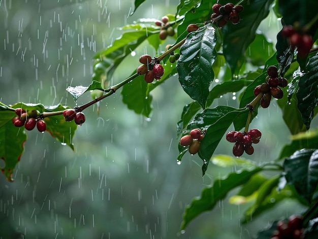
<instances>
[{"instance_id":1,"label":"bright red berry cluster hanging lowest in sharp focus, right of centre","mask_svg":"<svg viewBox=\"0 0 318 239\"><path fill-rule=\"evenodd\" d=\"M230 131L227 133L226 139L231 143L235 143L233 146L233 154L236 157L240 157L244 151L249 155L253 154L254 148L252 143L258 144L261 136L261 131L255 128L248 130L248 132Z\"/></svg>"}]
</instances>

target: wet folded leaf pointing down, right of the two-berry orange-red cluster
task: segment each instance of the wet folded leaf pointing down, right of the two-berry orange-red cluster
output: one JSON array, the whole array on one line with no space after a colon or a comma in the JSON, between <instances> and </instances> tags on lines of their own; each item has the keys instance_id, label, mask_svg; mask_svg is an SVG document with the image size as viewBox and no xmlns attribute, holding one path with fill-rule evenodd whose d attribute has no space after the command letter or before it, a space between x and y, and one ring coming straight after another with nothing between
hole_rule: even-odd
<instances>
[{"instance_id":1,"label":"wet folded leaf pointing down, right of the two-berry orange-red cluster","mask_svg":"<svg viewBox=\"0 0 318 239\"><path fill-rule=\"evenodd\" d=\"M218 106L206 109L196 115L195 120L189 124L190 128L207 128L205 136L200 144L199 156L207 165L212 157L218 143L225 136L227 129L233 121L241 116L247 115L248 109L235 109L232 107ZM203 123L203 125L202 125ZM205 171L202 172L205 174Z\"/></svg>"}]
</instances>

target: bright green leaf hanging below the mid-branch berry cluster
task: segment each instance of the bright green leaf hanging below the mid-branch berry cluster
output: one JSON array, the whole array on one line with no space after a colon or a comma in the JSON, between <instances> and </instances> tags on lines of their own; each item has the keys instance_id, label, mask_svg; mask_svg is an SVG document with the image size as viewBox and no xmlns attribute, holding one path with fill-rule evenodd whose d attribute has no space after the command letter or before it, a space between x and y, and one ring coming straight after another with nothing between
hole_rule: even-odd
<instances>
[{"instance_id":1,"label":"bright green leaf hanging below the mid-branch berry cluster","mask_svg":"<svg viewBox=\"0 0 318 239\"><path fill-rule=\"evenodd\" d=\"M144 76L138 76L125 84L121 90L122 102L127 105L128 109L145 117L149 117L152 111L152 96L147 95L147 87L148 83L145 82Z\"/></svg>"}]
</instances>

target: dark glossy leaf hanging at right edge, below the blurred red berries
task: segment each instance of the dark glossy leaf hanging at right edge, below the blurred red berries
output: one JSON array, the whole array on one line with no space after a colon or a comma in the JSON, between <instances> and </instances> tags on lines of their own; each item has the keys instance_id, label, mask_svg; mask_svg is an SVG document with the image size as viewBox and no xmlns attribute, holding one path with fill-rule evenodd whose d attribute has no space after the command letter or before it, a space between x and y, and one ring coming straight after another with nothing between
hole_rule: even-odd
<instances>
[{"instance_id":1,"label":"dark glossy leaf hanging at right edge, below the blurred red berries","mask_svg":"<svg viewBox=\"0 0 318 239\"><path fill-rule=\"evenodd\" d=\"M309 129L313 112L318 105L318 55L311 57L306 66L307 73L299 79L299 88L296 92L298 109L302 115L306 128Z\"/></svg>"}]
</instances>

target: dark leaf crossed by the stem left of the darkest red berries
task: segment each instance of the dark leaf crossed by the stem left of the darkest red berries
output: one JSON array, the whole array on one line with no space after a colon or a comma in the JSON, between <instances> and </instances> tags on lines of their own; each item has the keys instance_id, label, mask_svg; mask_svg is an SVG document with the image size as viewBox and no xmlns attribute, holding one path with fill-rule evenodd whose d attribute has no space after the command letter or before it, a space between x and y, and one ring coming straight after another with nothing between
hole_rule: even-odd
<instances>
[{"instance_id":1,"label":"dark leaf crossed by the stem left of the darkest red berries","mask_svg":"<svg viewBox=\"0 0 318 239\"><path fill-rule=\"evenodd\" d=\"M240 100L240 108L244 108L247 104L251 103L251 101L256 97L254 95L254 89L258 85L261 85L262 83L266 82L266 80L265 80L266 76L267 76L266 72L261 74L251 84L249 84L246 87L246 89L241 97L241 100ZM254 108L251 120L257 116L258 107L259 107L259 104L257 104L256 107ZM237 119L234 120L235 130L240 130L241 128L243 128L245 126L247 116L248 116L248 114L241 115Z\"/></svg>"}]
</instances>

